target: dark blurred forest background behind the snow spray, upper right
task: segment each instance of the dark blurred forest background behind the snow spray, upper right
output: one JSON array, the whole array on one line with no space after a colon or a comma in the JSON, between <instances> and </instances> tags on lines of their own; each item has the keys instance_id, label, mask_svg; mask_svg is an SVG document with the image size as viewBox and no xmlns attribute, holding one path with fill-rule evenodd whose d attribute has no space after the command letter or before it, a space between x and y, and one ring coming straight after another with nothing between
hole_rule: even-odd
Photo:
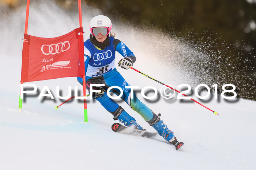
<instances>
[{"instance_id":1,"label":"dark blurred forest background behind the snow spray, upper right","mask_svg":"<svg viewBox=\"0 0 256 170\"><path fill-rule=\"evenodd\" d=\"M67 9L77 5L76 0L56 1ZM10 2L10 8L15 7L13 2L18 4L17 0ZM158 29L195 44L210 37L212 46L206 51L215 54L220 51L222 55L221 59L209 55L212 63L222 67L223 73L235 76L226 79L240 90L238 96L256 100L256 0L82 0L82 3L100 9L102 15L112 20ZM225 59L233 66L226 67Z\"/></svg>"}]
</instances>

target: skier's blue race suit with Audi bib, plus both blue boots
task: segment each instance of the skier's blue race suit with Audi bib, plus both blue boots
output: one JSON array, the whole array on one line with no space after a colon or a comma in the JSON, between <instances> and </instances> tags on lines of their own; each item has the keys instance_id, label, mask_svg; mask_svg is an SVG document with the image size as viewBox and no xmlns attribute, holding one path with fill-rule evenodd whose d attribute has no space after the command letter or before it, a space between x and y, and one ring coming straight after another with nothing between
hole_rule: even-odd
<instances>
[{"instance_id":1,"label":"skier's blue race suit with Audi bib, plus both blue boots","mask_svg":"<svg viewBox=\"0 0 256 170\"><path fill-rule=\"evenodd\" d=\"M119 52L123 57L133 57L135 58L133 52L129 50L127 46L120 40L114 43L114 37L109 37L109 45L104 49L100 49L94 46L90 39L84 42L84 66L86 70L86 88L90 92L90 84L104 84L102 87L105 91L111 86L118 86L123 89L123 99L133 110L138 112L144 120L146 120L150 126L154 127L166 141L169 141L174 137L172 131L170 131L163 121L150 110L145 104L140 102L133 93L133 98L131 98L131 89L124 88L125 86L130 86L126 80L121 76L121 74L116 70L114 60L116 51ZM115 44L115 45L114 45ZM136 58L135 58L136 59ZM78 77L80 84L83 84L83 79ZM97 89L98 90L98 89ZM116 95L120 95L120 90L118 88L112 88L111 90ZM130 116L121 106L114 102L109 96L104 92L101 97L96 97L101 105L109 111L113 116L114 120L120 120L124 125L129 126L129 122L136 122L136 120ZM139 126L140 127L140 126Z\"/></svg>"}]
</instances>

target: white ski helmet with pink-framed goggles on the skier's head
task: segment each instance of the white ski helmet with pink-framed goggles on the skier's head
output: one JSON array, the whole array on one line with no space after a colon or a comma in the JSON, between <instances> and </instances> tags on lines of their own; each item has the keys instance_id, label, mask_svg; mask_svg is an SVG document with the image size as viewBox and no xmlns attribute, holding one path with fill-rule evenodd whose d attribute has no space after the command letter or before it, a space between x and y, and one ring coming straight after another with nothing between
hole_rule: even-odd
<instances>
[{"instance_id":1,"label":"white ski helmet with pink-framed goggles on the skier's head","mask_svg":"<svg viewBox=\"0 0 256 170\"><path fill-rule=\"evenodd\" d=\"M101 28L98 28L101 27ZM97 28L97 29L93 29ZM104 29L106 28L106 29ZM90 21L90 31L91 34L95 36L95 32L97 35L101 33L102 35L110 35L112 29L112 23L110 19L107 16L104 15L97 15L93 17Z\"/></svg>"}]
</instances>

